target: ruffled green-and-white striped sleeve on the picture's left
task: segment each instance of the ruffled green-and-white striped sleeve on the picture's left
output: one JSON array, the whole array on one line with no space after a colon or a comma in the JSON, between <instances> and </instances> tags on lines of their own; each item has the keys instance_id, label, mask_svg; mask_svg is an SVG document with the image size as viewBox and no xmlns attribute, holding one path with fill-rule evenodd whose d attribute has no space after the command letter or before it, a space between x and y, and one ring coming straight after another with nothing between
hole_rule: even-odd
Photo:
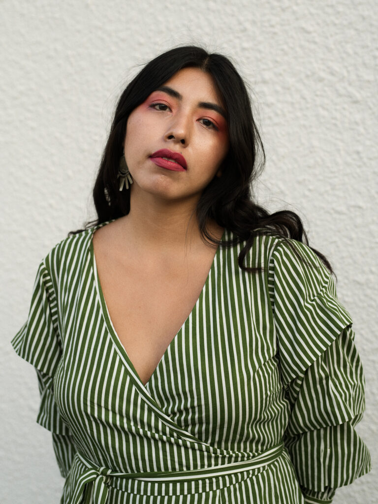
<instances>
[{"instance_id":1,"label":"ruffled green-and-white striped sleeve on the picture's left","mask_svg":"<svg viewBox=\"0 0 378 504\"><path fill-rule=\"evenodd\" d=\"M61 359L62 343L56 296L45 261L38 268L28 320L12 339L12 346L20 357L36 368L41 396L37 422L51 431L59 470L66 477L76 449L53 393L53 378Z\"/></svg>"}]
</instances>

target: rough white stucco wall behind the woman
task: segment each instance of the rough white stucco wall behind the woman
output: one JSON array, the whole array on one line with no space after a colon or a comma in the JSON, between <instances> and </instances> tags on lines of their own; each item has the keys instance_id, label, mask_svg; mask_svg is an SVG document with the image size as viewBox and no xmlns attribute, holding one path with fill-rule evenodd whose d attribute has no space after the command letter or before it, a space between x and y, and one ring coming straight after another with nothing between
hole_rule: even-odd
<instances>
[{"instance_id":1,"label":"rough white stucco wall behind the woman","mask_svg":"<svg viewBox=\"0 0 378 504\"><path fill-rule=\"evenodd\" d=\"M58 502L50 433L35 423L34 369L10 340L39 261L95 216L91 190L115 101L158 53L204 44L253 90L267 154L256 198L303 218L352 314L366 377L357 430L372 472L340 503L378 501L377 8L373 1L1 2L0 502ZM374 17L375 16L375 17Z\"/></svg>"}]
</instances>

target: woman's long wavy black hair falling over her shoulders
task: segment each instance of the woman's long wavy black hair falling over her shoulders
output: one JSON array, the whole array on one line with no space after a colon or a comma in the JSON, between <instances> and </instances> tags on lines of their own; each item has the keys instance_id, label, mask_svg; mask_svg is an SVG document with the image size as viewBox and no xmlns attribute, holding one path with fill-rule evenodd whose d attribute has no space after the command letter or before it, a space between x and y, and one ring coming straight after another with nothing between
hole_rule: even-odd
<instances>
[{"instance_id":1,"label":"woman's long wavy black hair falling over her shoulders","mask_svg":"<svg viewBox=\"0 0 378 504\"><path fill-rule=\"evenodd\" d=\"M245 241L238 256L240 268L251 273L261 271L262 268L248 268L243 264L257 235L292 238L308 245L307 235L300 217L294 212L281 210L270 214L254 202L251 186L264 169L266 158L248 91L229 58L219 53L209 53L203 47L179 46L158 55L122 92L93 190L97 219L88 222L86 228L130 212L130 188L128 191L119 191L117 180L129 115L156 88L187 67L199 68L212 76L225 105L230 142L229 151L221 165L221 176L213 178L198 201L196 215L199 230L203 239L217 246L232 246ZM208 231L211 219L231 230L233 238L220 244ZM70 234L80 231L71 231ZM288 244L297 254L295 247L290 242ZM310 248L334 273L326 257Z\"/></svg>"}]
</instances>

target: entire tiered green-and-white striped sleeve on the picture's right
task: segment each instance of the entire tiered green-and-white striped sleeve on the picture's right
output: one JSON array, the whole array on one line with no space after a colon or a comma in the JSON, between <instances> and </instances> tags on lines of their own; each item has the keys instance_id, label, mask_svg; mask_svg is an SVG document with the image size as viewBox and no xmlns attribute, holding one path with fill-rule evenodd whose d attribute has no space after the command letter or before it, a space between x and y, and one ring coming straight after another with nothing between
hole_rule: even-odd
<instances>
[{"instance_id":1,"label":"entire tiered green-and-white striped sleeve on the picture's right","mask_svg":"<svg viewBox=\"0 0 378 504\"><path fill-rule=\"evenodd\" d=\"M284 443L306 504L330 503L336 488L370 470L355 431L365 407L364 375L352 319L333 279L304 243L282 241L272 255L281 379L290 408Z\"/></svg>"}]
</instances>

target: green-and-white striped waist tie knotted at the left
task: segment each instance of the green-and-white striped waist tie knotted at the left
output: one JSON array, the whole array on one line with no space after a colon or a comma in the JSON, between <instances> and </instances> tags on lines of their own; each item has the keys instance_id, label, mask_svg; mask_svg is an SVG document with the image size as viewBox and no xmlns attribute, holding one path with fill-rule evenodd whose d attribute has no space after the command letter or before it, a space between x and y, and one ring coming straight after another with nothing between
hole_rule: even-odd
<instances>
[{"instance_id":1,"label":"green-and-white striped waist tie knotted at the left","mask_svg":"<svg viewBox=\"0 0 378 504\"><path fill-rule=\"evenodd\" d=\"M189 471L165 471L165 472L139 472L139 473L119 473L106 467L98 467L82 454L76 455L86 466L87 470L82 472L77 481L73 498L70 504L80 504L84 495L84 504L106 504L109 487L108 484L114 478L138 479L142 481L187 481L204 479L209 477L234 474L250 469L257 469L274 462L281 455L283 444L280 443L265 452L256 455L252 459L243 462L233 462L223 466L209 467L206 469L193 469ZM92 483L92 484L91 484Z\"/></svg>"}]
</instances>

